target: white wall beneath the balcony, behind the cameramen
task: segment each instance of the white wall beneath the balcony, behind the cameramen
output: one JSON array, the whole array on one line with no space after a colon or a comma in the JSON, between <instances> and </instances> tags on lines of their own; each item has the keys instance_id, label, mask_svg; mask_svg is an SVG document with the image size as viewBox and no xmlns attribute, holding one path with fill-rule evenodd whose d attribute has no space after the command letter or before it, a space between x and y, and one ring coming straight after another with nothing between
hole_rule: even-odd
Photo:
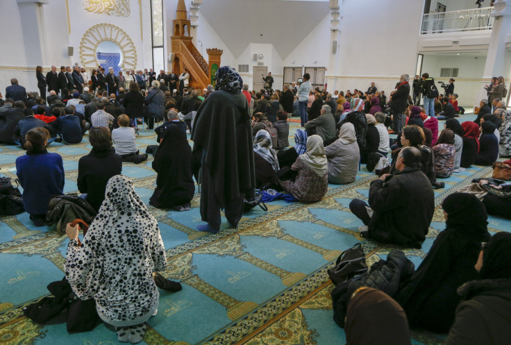
<instances>
[{"instance_id":1,"label":"white wall beneath the balcony, behind the cameramen","mask_svg":"<svg viewBox=\"0 0 511 345\"><path fill-rule=\"evenodd\" d=\"M454 93L458 94L460 106L474 106L478 104L478 93L481 87L481 78L485 71L486 58L474 56L424 56L422 73L428 73L435 78L435 85L442 94L443 89L437 81L449 82L449 78L440 78L440 69L459 68L458 77L454 78Z\"/></svg>"}]
</instances>

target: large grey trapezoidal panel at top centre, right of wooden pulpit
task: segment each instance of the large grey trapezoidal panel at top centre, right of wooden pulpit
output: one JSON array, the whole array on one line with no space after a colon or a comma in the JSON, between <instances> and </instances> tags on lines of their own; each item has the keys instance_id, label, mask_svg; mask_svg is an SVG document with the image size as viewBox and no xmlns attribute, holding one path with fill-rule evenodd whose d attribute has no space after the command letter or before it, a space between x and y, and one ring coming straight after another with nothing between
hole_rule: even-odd
<instances>
[{"instance_id":1,"label":"large grey trapezoidal panel at top centre, right of wooden pulpit","mask_svg":"<svg viewBox=\"0 0 511 345\"><path fill-rule=\"evenodd\" d=\"M269 43L286 58L328 12L328 0L206 0L200 8L235 57Z\"/></svg>"}]
</instances>

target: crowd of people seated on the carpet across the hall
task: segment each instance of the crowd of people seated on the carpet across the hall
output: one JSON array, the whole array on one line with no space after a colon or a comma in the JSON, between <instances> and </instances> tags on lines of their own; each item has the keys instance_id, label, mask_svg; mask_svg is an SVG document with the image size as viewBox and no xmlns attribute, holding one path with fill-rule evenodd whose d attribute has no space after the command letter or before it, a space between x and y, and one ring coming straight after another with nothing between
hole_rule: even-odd
<instances>
[{"instance_id":1,"label":"crowd of people seated on the carpet across the hall","mask_svg":"<svg viewBox=\"0 0 511 345\"><path fill-rule=\"evenodd\" d=\"M60 96L58 90L49 90L46 99L33 92L31 97L7 98L0 107L0 142L19 144L26 150L17 158L16 169L24 208L35 226L44 225L51 197L63 194L65 184L62 157L49 153L47 146L52 142L78 144L88 131L92 150L78 161L77 184L81 197L97 212L87 236L104 241L85 240L80 246L78 228L69 225L66 276L78 297L97 301L99 317L115 326L119 341L133 344L142 341L145 322L156 314L156 286L177 291L181 285L153 273L165 269L158 222L140 200L133 182L121 175L123 162L147 160L148 155L140 153L135 141L137 126L146 122L153 129L155 121L162 121L154 129L158 145L152 168L157 177L149 204L190 210L196 191L194 178L199 174L195 162L201 158L192 152L187 133L193 133L197 112L215 92L212 87L203 96L192 87L176 92L168 90L166 78L161 79L162 84L156 76L146 83L140 78L126 83L128 92L124 87L112 90L110 85L104 85L108 89L104 90L99 84L95 94L94 87L63 88ZM305 74L304 83L309 78ZM498 81L503 83L503 78ZM326 195L328 183L353 183L360 163L369 166L371 160L389 156L390 164L377 171L379 178L370 184L367 202L353 199L349 209L364 224L358 229L362 237L421 249L435 212L434 189L444 187L440 179L472 165L493 165L499 156L511 155L511 110L505 109L501 99L490 97L480 101L475 121L460 123L455 118L462 111L457 94L442 97L433 78L423 74L421 108L414 105L408 82L409 76L403 74L388 99L374 83L367 92L336 90L334 94L289 84L283 92L267 94L240 85L252 117L247 129L252 133L248 139L256 187L290 194L301 203L315 203ZM11 83L17 85L15 79ZM144 85L150 85L147 92L140 89ZM300 117L301 128L296 129L295 144L289 147L293 116ZM446 120L442 131L439 120ZM398 135L396 142L391 142L389 133ZM498 180L478 183L499 193L478 198L457 192L446 197L442 203L446 228L417 270L401 283L399 292L388 296L361 287L353 293L346 314L348 344L385 344L387 338L390 344L390 339L396 342L396 335L402 337L399 344L410 344L409 326L449 333L449 345L507 344L511 335L511 269L507 261L511 235L492 237L487 214L511 219L511 185ZM113 234L123 221L136 246L126 246ZM106 250L114 245L115 251ZM129 271L119 264L119 258L133 255L130 251L148 265ZM121 281L119 271L129 271L134 278ZM110 283L99 280L100 274L110 278ZM112 281L142 297L120 305L112 298L119 294ZM142 288L144 284L150 288ZM378 310L377 319L373 310Z\"/></svg>"}]
</instances>

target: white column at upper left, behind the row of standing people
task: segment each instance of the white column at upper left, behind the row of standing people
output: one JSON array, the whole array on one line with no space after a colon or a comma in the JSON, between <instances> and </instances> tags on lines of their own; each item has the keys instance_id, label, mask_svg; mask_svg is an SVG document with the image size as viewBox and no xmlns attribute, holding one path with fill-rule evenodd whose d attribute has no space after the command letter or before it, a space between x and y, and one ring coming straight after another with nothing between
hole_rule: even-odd
<instances>
[{"instance_id":1,"label":"white column at upper left, behind the row of standing people","mask_svg":"<svg viewBox=\"0 0 511 345\"><path fill-rule=\"evenodd\" d=\"M48 44L42 6L49 0L17 0L28 67L47 66Z\"/></svg>"}]
</instances>

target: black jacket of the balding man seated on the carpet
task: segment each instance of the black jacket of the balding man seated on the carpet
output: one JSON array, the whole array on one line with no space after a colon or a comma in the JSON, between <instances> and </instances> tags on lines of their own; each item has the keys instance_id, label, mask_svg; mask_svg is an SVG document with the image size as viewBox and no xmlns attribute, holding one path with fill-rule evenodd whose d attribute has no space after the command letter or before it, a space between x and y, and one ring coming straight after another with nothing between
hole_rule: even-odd
<instances>
[{"instance_id":1,"label":"black jacket of the balding man seated on the carpet","mask_svg":"<svg viewBox=\"0 0 511 345\"><path fill-rule=\"evenodd\" d=\"M405 168L369 187L369 206L374 210L369 237L382 243L420 248L428 234L435 193L419 168Z\"/></svg>"}]
</instances>

